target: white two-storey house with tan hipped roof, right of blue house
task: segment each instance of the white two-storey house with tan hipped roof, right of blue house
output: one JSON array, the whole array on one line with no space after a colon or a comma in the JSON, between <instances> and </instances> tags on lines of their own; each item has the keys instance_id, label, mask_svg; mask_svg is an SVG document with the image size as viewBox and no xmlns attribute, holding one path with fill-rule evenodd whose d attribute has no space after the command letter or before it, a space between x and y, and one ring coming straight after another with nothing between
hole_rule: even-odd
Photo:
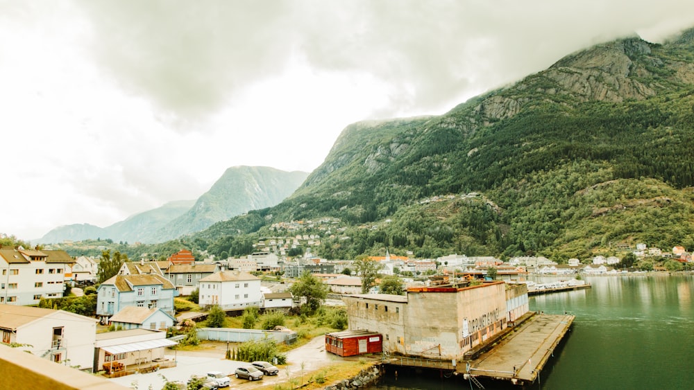
<instances>
[{"instance_id":1,"label":"white two-storey house with tan hipped roof, right of blue house","mask_svg":"<svg viewBox=\"0 0 694 390\"><path fill-rule=\"evenodd\" d=\"M223 310L262 306L260 278L243 271L220 271L198 282L198 303Z\"/></svg>"}]
</instances>

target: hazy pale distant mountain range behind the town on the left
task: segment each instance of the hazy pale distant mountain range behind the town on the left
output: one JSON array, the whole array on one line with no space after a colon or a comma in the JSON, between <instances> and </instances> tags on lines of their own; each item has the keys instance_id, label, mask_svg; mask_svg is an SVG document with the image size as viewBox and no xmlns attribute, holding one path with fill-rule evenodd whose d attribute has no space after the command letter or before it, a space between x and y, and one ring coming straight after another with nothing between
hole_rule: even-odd
<instances>
[{"instance_id":1,"label":"hazy pale distant mountain range behind the town on the left","mask_svg":"<svg viewBox=\"0 0 694 390\"><path fill-rule=\"evenodd\" d=\"M169 202L157 209L128 217L109 227L71 224L52 229L38 243L110 238L125 242L163 242L209 227L253 209L281 202L307 177L306 172L285 172L268 167L228 168L198 200Z\"/></svg>"}]
</instances>

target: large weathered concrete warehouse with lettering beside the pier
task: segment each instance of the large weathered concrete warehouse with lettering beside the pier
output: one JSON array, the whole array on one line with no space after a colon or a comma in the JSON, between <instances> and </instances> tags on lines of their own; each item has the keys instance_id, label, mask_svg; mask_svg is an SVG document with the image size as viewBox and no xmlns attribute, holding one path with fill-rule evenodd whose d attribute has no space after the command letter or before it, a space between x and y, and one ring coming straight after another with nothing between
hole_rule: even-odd
<instances>
[{"instance_id":1,"label":"large weathered concrete warehouse with lettering beside the pier","mask_svg":"<svg viewBox=\"0 0 694 390\"><path fill-rule=\"evenodd\" d=\"M506 283L466 287L411 287L407 295L343 296L349 330L383 335L383 349L450 360L507 327Z\"/></svg>"}]
</instances>

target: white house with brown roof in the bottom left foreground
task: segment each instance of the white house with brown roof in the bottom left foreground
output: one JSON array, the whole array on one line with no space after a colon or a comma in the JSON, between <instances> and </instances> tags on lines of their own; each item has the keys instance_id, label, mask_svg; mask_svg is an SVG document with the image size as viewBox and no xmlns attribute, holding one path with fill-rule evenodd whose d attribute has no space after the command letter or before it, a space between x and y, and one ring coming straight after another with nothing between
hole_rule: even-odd
<instances>
[{"instance_id":1,"label":"white house with brown roof in the bottom left foreground","mask_svg":"<svg viewBox=\"0 0 694 390\"><path fill-rule=\"evenodd\" d=\"M53 362L91 371L94 364L96 320L63 310L0 305L0 333L4 343Z\"/></svg>"}]
</instances>

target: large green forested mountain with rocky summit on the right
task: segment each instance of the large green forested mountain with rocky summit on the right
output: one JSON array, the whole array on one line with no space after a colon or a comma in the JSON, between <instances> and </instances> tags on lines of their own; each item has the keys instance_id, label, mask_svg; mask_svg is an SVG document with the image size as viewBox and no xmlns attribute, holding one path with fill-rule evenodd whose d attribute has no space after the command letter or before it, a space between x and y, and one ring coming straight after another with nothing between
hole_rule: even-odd
<instances>
[{"instance_id":1,"label":"large green forested mountain with rocky summit on the right","mask_svg":"<svg viewBox=\"0 0 694 390\"><path fill-rule=\"evenodd\" d=\"M332 218L326 258L694 249L693 39L618 39L441 116L349 125L287 200L194 236L236 254L278 222Z\"/></svg>"}]
</instances>

